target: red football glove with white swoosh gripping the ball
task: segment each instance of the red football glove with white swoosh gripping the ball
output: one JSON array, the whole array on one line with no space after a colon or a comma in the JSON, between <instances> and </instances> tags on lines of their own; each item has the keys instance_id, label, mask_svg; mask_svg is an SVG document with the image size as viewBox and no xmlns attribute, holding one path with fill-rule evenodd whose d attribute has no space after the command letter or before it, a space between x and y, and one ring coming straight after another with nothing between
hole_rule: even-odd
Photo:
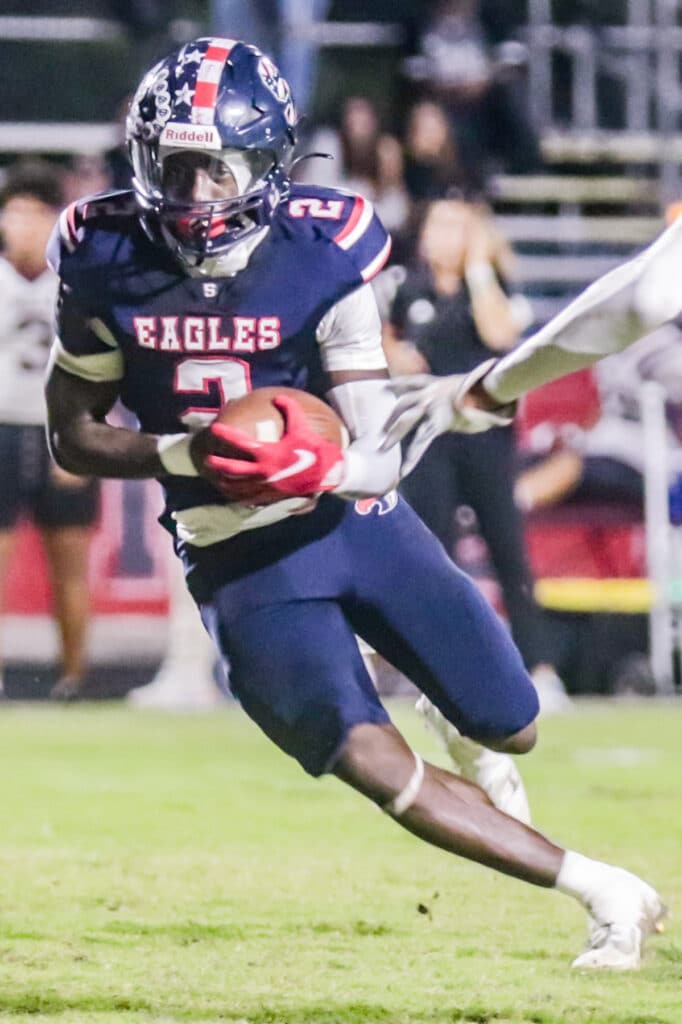
<instances>
[{"instance_id":1,"label":"red football glove with white swoosh gripping the ball","mask_svg":"<svg viewBox=\"0 0 682 1024\"><path fill-rule=\"evenodd\" d=\"M326 440L308 426L305 413L295 399L278 395L272 404L285 420L279 441L256 440L224 423L211 425L214 437L240 453L236 459L219 455L209 455L206 459L206 465L218 477L218 486L224 480L224 488L220 489L228 497L239 495L243 483L242 500L251 500L254 504L263 500L257 497L259 483L263 485L263 498L268 492L283 498L306 498L322 490L333 490L341 482L343 473L340 445Z\"/></svg>"}]
</instances>

